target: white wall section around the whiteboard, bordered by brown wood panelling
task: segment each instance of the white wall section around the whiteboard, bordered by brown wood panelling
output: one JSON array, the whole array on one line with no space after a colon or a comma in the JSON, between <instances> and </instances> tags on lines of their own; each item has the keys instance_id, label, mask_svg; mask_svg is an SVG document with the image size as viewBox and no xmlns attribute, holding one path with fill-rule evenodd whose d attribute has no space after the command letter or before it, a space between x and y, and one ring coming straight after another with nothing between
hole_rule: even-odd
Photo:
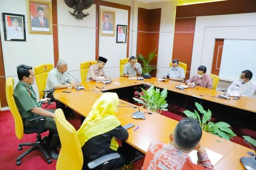
<instances>
[{"instance_id":1,"label":"white wall section around the whiteboard, bordered by brown wood panelling","mask_svg":"<svg viewBox=\"0 0 256 170\"><path fill-rule=\"evenodd\" d=\"M256 39L256 13L197 17L192 53L191 74L199 65L211 73L215 38ZM239 63L231 61L232 64ZM242 70L241 70L242 71Z\"/></svg>"}]
</instances>

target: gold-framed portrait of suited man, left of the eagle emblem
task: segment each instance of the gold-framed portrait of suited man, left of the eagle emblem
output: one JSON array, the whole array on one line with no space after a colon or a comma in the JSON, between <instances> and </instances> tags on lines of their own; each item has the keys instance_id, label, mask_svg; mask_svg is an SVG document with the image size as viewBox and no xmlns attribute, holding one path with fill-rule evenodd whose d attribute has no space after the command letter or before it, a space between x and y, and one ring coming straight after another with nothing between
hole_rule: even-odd
<instances>
[{"instance_id":1,"label":"gold-framed portrait of suited man, left of the eagle emblem","mask_svg":"<svg viewBox=\"0 0 256 170\"><path fill-rule=\"evenodd\" d=\"M52 34L52 2L27 0L28 33Z\"/></svg>"}]
</instances>

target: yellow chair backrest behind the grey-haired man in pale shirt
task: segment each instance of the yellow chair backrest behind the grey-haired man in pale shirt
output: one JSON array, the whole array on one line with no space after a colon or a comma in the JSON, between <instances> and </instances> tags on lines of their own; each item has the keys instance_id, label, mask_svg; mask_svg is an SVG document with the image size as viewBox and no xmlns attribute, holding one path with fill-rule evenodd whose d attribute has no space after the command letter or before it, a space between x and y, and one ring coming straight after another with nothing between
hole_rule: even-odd
<instances>
[{"instance_id":1,"label":"yellow chair backrest behind the grey-haired man in pale shirt","mask_svg":"<svg viewBox=\"0 0 256 170\"><path fill-rule=\"evenodd\" d=\"M44 97L44 89L46 86L46 80L48 78L48 74L50 70L53 69L53 64L39 64L38 66L34 67L34 75L36 77L36 83L37 83L37 88L39 91L39 98Z\"/></svg>"}]
</instances>

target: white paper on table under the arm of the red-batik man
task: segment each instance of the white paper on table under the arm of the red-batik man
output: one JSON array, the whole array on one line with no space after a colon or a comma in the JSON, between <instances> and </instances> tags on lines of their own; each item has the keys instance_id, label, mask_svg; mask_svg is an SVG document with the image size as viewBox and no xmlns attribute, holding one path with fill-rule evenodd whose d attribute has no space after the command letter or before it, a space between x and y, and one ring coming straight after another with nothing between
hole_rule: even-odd
<instances>
[{"instance_id":1,"label":"white paper on table under the arm of the red-batik man","mask_svg":"<svg viewBox=\"0 0 256 170\"><path fill-rule=\"evenodd\" d=\"M219 153L216 153L214 151L211 151L210 149L206 149L206 153L208 155L208 158L210 159L210 162L212 163L212 165L216 165L219 160L223 157L223 155L219 154ZM193 164L197 164L197 151L194 150L192 152L190 152L189 154L191 160L192 160L192 163Z\"/></svg>"}]
</instances>

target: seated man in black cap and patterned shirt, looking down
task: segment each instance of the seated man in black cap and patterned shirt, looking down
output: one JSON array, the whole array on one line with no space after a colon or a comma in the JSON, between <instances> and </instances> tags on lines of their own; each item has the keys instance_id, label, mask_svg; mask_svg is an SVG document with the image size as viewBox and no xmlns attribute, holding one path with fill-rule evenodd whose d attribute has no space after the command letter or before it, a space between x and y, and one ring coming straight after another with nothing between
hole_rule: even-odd
<instances>
[{"instance_id":1,"label":"seated man in black cap and patterned shirt, looking down","mask_svg":"<svg viewBox=\"0 0 256 170\"><path fill-rule=\"evenodd\" d=\"M104 57L99 57L97 64L92 65L87 73L86 81L105 81L111 80L109 77L106 77L106 74L103 70L107 59Z\"/></svg>"}]
</instances>

